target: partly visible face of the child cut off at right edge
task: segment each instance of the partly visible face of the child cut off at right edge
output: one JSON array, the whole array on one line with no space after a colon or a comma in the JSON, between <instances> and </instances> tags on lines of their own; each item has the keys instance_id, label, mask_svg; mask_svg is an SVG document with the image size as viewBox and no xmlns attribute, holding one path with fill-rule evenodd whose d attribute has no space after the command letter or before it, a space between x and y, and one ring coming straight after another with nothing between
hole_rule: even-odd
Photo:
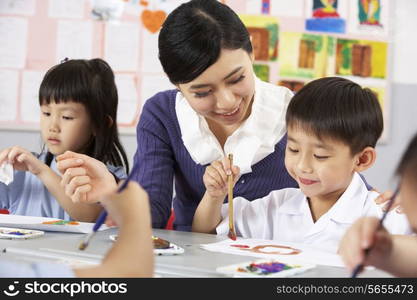
<instances>
[{"instance_id":1,"label":"partly visible face of the child cut off at right edge","mask_svg":"<svg viewBox=\"0 0 417 300\"><path fill-rule=\"evenodd\" d=\"M400 197L401 206L407 216L408 222L413 228L413 231L417 232L417 189L415 180L412 180L407 175L401 181Z\"/></svg>"}]
</instances>

